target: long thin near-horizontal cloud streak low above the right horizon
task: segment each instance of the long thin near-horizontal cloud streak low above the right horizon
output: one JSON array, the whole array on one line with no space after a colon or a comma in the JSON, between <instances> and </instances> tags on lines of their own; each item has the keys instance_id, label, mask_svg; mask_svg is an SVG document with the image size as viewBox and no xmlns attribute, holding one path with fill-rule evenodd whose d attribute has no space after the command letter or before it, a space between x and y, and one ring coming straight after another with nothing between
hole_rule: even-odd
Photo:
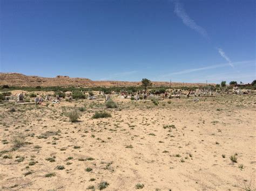
<instances>
[{"instance_id":1,"label":"long thin near-horizontal cloud streak low above the right horizon","mask_svg":"<svg viewBox=\"0 0 256 191\"><path fill-rule=\"evenodd\" d=\"M187 73L197 72L197 71L200 71L200 70L221 68L221 67L226 67L226 66L230 66L230 65L232 65L232 66L241 65L241 64L252 63L252 62L255 62L255 60L245 60L245 61L240 61L240 62L221 63L221 64L218 64L218 65L206 66L206 67L201 67L201 68L192 68L192 69L181 70L179 72L173 72L173 73L162 75L161 77L168 77L168 76L179 75L179 74L187 74Z\"/></svg>"}]
</instances>

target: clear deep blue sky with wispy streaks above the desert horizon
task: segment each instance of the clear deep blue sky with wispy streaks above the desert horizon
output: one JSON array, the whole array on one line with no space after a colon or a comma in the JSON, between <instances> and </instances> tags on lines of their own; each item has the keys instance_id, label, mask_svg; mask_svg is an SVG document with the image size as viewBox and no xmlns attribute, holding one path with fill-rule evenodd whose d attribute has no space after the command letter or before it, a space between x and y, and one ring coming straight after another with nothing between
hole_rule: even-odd
<instances>
[{"instance_id":1,"label":"clear deep blue sky with wispy streaks above the desert horizon","mask_svg":"<svg viewBox=\"0 0 256 191\"><path fill-rule=\"evenodd\" d=\"M0 2L0 72L122 81L256 79L253 0Z\"/></svg>"}]
</instances>

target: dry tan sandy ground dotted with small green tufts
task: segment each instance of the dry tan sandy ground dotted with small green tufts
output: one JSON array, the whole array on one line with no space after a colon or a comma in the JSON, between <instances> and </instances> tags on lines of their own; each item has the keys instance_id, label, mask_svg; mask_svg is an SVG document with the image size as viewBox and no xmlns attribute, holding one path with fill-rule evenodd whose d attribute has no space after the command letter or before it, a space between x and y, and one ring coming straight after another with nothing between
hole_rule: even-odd
<instances>
[{"instance_id":1,"label":"dry tan sandy ground dotted with small green tufts","mask_svg":"<svg viewBox=\"0 0 256 191\"><path fill-rule=\"evenodd\" d=\"M0 189L99 189L104 181L106 190L255 189L255 95L193 99L113 98L116 109L90 100L5 104ZM66 113L78 107L86 111L71 123ZM92 119L99 110L112 117ZM15 148L21 133L25 144Z\"/></svg>"}]
</instances>

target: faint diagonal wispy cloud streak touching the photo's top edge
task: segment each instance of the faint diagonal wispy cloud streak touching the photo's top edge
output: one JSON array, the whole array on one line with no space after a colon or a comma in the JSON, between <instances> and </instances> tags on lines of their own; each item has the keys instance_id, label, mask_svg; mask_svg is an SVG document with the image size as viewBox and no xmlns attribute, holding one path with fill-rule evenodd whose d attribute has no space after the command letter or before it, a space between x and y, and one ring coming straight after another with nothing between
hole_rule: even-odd
<instances>
[{"instance_id":1,"label":"faint diagonal wispy cloud streak touching the photo's top edge","mask_svg":"<svg viewBox=\"0 0 256 191\"><path fill-rule=\"evenodd\" d=\"M179 2L179 0L173 0L172 2L175 6L174 13L176 13L176 15L182 19L183 23L191 29L200 33L205 38L208 38L208 34L205 29L199 26L196 22L194 22L193 19L190 18L190 16L187 15L185 9L183 8L183 5Z\"/></svg>"}]
</instances>

